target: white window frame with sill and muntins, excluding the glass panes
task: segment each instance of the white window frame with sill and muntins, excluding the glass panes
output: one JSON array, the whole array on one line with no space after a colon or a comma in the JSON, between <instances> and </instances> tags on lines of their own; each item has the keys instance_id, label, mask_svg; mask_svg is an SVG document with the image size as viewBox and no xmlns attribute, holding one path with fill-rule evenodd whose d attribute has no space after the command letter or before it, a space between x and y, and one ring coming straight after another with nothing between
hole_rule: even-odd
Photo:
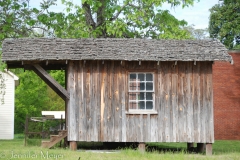
<instances>
[{"instance_id":1,"label":"white window frame with sill and muntins, excluding the glass panes","mask_svg":"<svg viewBox=\"0 0 240 160\"><path fill-rule=\"evenodd\" d=\"M145 76L145 79L144 81L130 81L130 74L136 74L136 76L138 76L138 74L144 74ZM152 74L152 81L147 81L146 80L146 74ZM128 72L128 111L127 111L127 114L157 114L156 110L155 110L155 75L154 75L154 72ZM138 79L138 77L136 77L136 79ZM146 90L146 86L145 86L145 90L131 90L131 86L130 86L130 83L131 82L137 82L137 83L152 83L153 84L153 89L152 90ZM130 94L131 93L139 93L139 92L143 92L144 93L144 100L130 100ZM152 100L147 100L146 99L146 93L147 92L150 92L152 93ZM137 97L137 95L136 95ZM136 102L138 103L139 101L144 101L144 106L145 106L145 109L130 109L130 102ZM152 105L153 105L153 108L152 109L146 109L146 102L149 102L149 101L152 101Z\"/></svg>"}]
</instances>

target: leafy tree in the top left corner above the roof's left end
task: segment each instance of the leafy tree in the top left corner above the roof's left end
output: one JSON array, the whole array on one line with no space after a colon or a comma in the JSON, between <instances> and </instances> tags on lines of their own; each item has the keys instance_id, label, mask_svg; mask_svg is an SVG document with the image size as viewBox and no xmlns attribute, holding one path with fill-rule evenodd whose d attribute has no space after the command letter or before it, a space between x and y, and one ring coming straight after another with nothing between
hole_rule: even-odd
<instances>
[{"instance_id":1,"label":"leafy tree in the top left corner above the roof's left end","mask_svg":"<svg viewBox=\"0 0 240 160\"><path fill-rule=\"evenodd\" d=\"M45 12L52 1L43 1L41 10L30 8L29 0L0 1L0 45L5 38L39 36L36 27L40 27L35 20L39 14Z\"/></svg>"}]
</instances>

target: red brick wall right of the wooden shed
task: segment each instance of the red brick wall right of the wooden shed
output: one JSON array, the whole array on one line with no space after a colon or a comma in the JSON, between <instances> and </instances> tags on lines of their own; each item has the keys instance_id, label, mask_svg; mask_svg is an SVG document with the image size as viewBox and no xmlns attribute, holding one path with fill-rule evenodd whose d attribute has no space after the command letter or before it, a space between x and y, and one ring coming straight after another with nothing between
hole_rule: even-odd
<instances>
[{"instance_id":1,"label":"red brick wall right of the wooden shed","mask_svg":"<svg viewBox=\"0 0 240 160\"><path fill-rule=\"evenodd\" d=\"M234 64L213 65L214 132L216 140L240 140L240 51L229 51Z\"/></svg>"}]
</instances>

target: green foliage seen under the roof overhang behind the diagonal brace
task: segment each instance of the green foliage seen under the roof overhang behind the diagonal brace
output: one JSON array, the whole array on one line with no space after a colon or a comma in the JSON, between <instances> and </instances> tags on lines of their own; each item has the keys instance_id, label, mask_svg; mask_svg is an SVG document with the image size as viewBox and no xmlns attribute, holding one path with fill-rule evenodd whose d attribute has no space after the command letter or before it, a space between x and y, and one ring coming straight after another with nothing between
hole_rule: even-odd
<instances>
[{"instance_id":1,"label":"green foliage seen under the roof overhang behind the diagonal brace","mask_svg":"<svg viewBox=\"0 0 240 160\"><path fill-rule=\"evenodd\" d=\"M64 101L33 71L16 69L15 73L21 80L15 93L15 133L23 132L26 115L41 117L43 110L64 110ZM63 71L53 71L51 75L64 85Z\"/></svg>"}]
</instances>

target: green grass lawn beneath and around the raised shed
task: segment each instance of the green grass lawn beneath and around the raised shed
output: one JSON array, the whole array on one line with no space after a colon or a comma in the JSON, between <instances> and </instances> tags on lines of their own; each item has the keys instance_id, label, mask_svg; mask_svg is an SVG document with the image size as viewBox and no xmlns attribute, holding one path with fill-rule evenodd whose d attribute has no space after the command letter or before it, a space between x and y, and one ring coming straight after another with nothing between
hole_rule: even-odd
<instances>
[{"instance_id":1,"label":"green grass lawn beneath and around the raised shed","mask_svg":"<svg viewBox=\"0 0 240 160\"><path fill-rule=\"evenodd\" d=\"M80 147L81 144L79 145ZM186 153L185 143L150 143L149 147L173 149L170 151L152 150L151 152L141 153L135 149L122 148L119 152L96 153L84 149L71 151L69 148L45 149L34 143L24 146L23 136L16 136L14 140L0 140L0 160L15 159L58 159L58 160L188 160L188 159L240 159L240 141L216 141L213 144L213 155L205 156L203 154Z\"/></svg>"}]
</instances>

